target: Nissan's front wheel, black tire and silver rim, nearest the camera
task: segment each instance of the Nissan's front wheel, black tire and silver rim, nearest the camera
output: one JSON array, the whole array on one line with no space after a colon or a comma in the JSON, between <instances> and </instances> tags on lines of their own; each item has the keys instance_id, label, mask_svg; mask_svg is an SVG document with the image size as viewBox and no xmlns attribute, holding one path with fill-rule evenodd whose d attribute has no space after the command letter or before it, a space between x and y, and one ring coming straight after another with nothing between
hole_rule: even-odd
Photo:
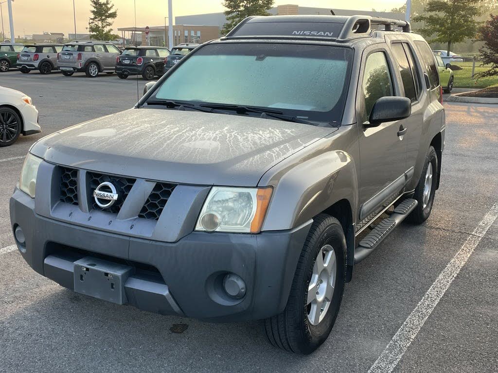
<instances>
[{"instance_id":1,"label":"Nissan's front wheel, black tire and silver rim, nearest the camera","mask_svg":"<svg viewBox=\"0 0 498 373\"><path fill-rule=\"evenodd\" d=\"M264 320L272 345L310 354L325 342L344 292L345 253L341 223L329 215L318 215L301 252L284 311Z\"/></svg>"}]
</instances>

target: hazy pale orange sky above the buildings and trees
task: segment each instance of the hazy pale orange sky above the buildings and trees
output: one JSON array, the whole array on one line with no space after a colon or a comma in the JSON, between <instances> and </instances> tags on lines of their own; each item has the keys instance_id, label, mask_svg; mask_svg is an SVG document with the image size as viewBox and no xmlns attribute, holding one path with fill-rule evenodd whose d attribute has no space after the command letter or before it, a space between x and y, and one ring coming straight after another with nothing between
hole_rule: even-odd
<instances>
[{"instance_id":1,"label":"hazy pale orange sky above the buildings and trees","mask_svg":"<svg viewBox=\"0 0 498 373\"><path fill-rule=\"evenodd\" d=\"M0 2L3 0L0 0ZM90 0L74 0L76 4L76 30L87 33L90 17ZM118 9L113 28L134 25L133 0L112 0ZM136 0L137 26L158 26L164 24L167 16L167 0ZM298 4L301 6L333 7L336 9L390 10L398 7L404 0L276 0L274 5ZM3 27L9 34L7 3L1 5ZM16 36L33 33L74 32L73 0L14 0L12 2L14 32ZM222 0L173 0L173 20L178 15L215 13L224 11ZM118 33L118 32L116 32Z\"/></svg>"}]
</instances>

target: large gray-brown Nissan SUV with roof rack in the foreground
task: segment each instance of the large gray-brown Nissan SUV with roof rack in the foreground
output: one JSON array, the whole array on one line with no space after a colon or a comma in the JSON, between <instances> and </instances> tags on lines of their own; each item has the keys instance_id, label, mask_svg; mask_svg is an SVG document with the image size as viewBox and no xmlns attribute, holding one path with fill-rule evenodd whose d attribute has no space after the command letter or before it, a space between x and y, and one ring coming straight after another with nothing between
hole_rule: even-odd
<instances>
[{"instance_id":1,"label":"large gray-brown Nissan SUV with roof rack in the foreground","mask_svg":"<svg viewBox=\"0 0 498 373\"><path fill-rule=\"evenodd\" d=\"M249 17L134 108L34 144L12 232L36 272L76 292L261 319L273 345L309 354L355 265L429 217L440 99L429 45L405 21Z\"/></svg>"}]
</instances>

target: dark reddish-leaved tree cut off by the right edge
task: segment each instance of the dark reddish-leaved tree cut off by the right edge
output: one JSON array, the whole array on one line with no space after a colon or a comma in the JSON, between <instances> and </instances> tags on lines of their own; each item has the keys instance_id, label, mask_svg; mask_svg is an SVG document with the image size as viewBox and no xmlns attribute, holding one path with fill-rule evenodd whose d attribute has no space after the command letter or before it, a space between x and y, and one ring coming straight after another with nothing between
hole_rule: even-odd
<instances>
[{"instance_id":1,"label":"dark reddish-leaved tree cut off by the right edge","mask_svg":"<svg viewBox=\"0 0 498 373\"><path fill-rule=\"evenodd\" d=\"M477 74L478 77L491 77L498 75L498 15L491 14L479 28L478 40L484 41L484 47L479 49L483 56L483 65L491 65L489 70Z\"/></svg>"}]
</instances>

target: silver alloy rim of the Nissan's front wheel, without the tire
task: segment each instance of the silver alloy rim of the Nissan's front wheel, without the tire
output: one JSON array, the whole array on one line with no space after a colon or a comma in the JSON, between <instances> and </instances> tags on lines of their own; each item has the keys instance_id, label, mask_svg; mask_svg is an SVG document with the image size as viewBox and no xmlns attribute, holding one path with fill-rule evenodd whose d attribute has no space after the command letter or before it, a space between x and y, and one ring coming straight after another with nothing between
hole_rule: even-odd
<instances>
[{"instance_id":1,"label":"silver alloy rim of the Nissan's front wheel, without the tire","mask_svg":"<svg viewBox=\"0 0 498 373\"><path fill-rule=\"evenodd\" d=\"M330 245L323 246L313 266L313 275L308 285L306 309L311 325L318 325L329 310L337 277L337 260Z\"/></svg>"}]
</instances>

